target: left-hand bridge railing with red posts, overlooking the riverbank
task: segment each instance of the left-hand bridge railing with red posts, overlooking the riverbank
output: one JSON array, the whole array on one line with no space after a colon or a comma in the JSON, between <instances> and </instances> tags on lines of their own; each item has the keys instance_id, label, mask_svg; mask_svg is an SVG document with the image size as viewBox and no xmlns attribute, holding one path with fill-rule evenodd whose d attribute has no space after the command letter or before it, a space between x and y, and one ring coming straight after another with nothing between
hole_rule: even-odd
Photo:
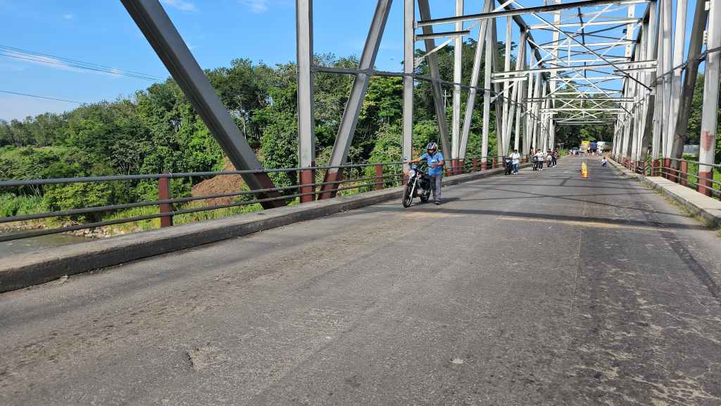
<instances>
[{"instance_id":1,"label":"left-hand bridge railing with red posts, overlooking the riverbank","mask_svg":"<svg viewBox=\"0 0 721 406\"><path fill-rule=\"evenodd\" d=\"M485 158L485 159L484 159ZM524 157L527 159L527 157ZM484 165L485 162L485 165ZM502 157L495 156L473 156L464 160L446 160L446 176L460 175L463 173L477 172L485 169L503 167ZM311 200L321 198L321 195L344 195L363 193L370 190L381 190L384 187L402 185L405 174L403 162L379 162L366 164L346 164L337 167L317 166L311 168L314 171L312 183L297 182L296 184L283 187L270 187L255 190L235 190L226 193L212 193L203 195L190 195L173 198L170 181L176 179L209 179L219 175L244 175L244 174L286 174L295 178L301 172L301 168L285 169L259 169L259 170L231 170L212 172L179 172L179 173L156 173L146 175L110 175L94 177L65 177L52 179L32 180L1 180L0 191L19 187L45 187L48 185L67 185L74 183L94 182L128 182L138 180L156 180L158 182L158 197L156 200L144 200L133 203L120 203L106 206L89 206L70 208L67 210L43 211L38 213L24 213L16 216L0 218L0 226L4 229L14 231L0 234L0 242L8 242L16 239L40 237L49 234L73 233L87 229L98 229L118 224L136 223L140 221L159 220L159 226L172 226L174 219L182 219L182 222L200 221L212 218L213 216L200 216L201 213L228 211L229 209L242 208L244 206L258 205L274 200L281 200L285 203L296 203L304 196L311 196ZM324 180L329 169L336 169L340 172L337 180ZM273 176L273 175L271 175ZM299 177L299 176L298 176ZM273 197L268 197L273 195ZM202 204L208 202L227 201L227 203ZM147 208L156 207L157 212L151 213ZM136 209L135 211L130 209ZM144 209L144 210L143 210ZM260 210L257 207L257 210ZM187 215L198 213L201 219L187 219ZM109 216L112 214L112 216ZM220 216L230 216L236 212L223 213ZM49 221L50 226L43 224ZM90 220L89 220L90 219ZM189 221L190 220L190 221ZM59 224L55 226L55 224ZM30 228L30 229L26 229ZM156 228L156 226L151 226Z\"/></svg>"}]
</instances>

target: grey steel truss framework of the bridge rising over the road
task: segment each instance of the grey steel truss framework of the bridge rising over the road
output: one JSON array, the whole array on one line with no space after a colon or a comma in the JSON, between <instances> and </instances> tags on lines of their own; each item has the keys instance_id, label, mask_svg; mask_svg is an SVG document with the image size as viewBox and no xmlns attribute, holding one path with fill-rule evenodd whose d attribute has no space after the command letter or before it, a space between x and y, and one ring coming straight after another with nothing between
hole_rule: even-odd
<instances>
[{"instance_id":1,"label":"grey steel truss framework of the bridge rising over the road","mask_svg":"<svg viewBox=\"0 0 721 406\"><path fill-rule=\"evenodd\" d=\"M121 1L231 162L237 169L260 169L260 162L159 0ZM468 7L468 0L456 0L454 15L433 18L428 0L402 0L404 66L402 72L388 72L374 66L392 0L377 0L357 69L314 65L312 0L296 0L299 167L315 166L314 76L319 71L354 76L330 167L346 163L372 76L402 78L399 136L404 159L411 158L413 152L416 81L430 82L438 141L444 154L453 160L452 166L466 157L478 92L483 97L479 107L481 146L472 153L481 156L482 164L490 152L492 115L497 156L507 155L512 149L528 153L554 148L557 125L613 124L616 159L637 163L647 157L680 158L699 63L705 60L699 170L710 178L717 132L721 0L696 2L686 61L687 0L673 1L478 0ZM523 6L521 2L534 4ZM534 24L529 25L525 18ZM434 30L438 25L445 26ZM505 42L501 58L497 55L497 27L503 27L499 31ZM536 40L532 32L542 40ZM477 35L473 66L472 71L464 72L463 38L471 35ZM442 42L436 44L437 39ZM419 42L425 48L423 55L416 50ZM515 55L512 43L517 45ZM438 68L438 50L448 45L454 46L452 79L442 78ZM424 60L430 76L418 74L417 68ZM453 90L450 131L443 87ZM464 91L466 105L462 108ZM492 105L495 114L491 114ZM310 171L301 170L301 183L314 182ZM339 178L340 172L331 169L325 182ZM248 175L246 181L254 189L273 187L262 174ZM319 198L329 196L330 191L319 193ZM312 200L312 195L304 200Z\"/></svg>"}]
</instances>

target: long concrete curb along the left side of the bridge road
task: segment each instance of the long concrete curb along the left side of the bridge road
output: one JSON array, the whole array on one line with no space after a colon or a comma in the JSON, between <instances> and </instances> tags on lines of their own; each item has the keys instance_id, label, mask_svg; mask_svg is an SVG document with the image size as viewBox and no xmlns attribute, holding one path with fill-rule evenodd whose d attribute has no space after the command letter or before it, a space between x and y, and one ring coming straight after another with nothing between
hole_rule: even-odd
<instances>
[{"instance_id":1,"label":"long concrete curb along the left side of the bridge road","mask_svg":"<svg viewBox=\"0 0 721 406\"><path fill-rule=\"evenodd\" d=\"M521 167L528 165L522 164ZM461 182L503 174L503 171L503 168L488 169L484 172L447 177L444 178L443 185L457 185ZM12 255L4 258L0 264L0 293L53 281L63 275L74 275L167 252L198 247L257 231L286 226L298 221L318 219L341 211L371 206L395 198L400 200L402 190L403 187L373 190L358 195L317 200L224 219L141 231L92 242ZM400 204L400 201L398 203Z\"/></svg>"}]
</instances>

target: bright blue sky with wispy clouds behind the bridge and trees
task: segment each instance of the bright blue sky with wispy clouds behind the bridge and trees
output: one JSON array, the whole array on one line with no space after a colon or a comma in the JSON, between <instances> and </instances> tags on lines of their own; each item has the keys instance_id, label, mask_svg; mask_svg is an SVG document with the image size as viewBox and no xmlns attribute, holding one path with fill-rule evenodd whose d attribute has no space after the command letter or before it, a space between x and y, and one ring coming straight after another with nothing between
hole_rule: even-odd
<instances>
[{"instance_id":1,"label":"bright blue sky with wispy clouds behind the bridge and trees","mask_svg":"<svg viewBox=\"0 0 721 406\"><path fill-rule=\"evenodd\" d=\"M453 15L454 3L431 0L433 17ZM466 0L466 13L479 12L481 3ZM524 6L540 3L522 1ZM690 27L694 4L689 3ZM162 4L203 68L227 66L231 59L242 57L268 64L296 58L294 0L162 0ZM375 5L374 0L315 0L315 52L360 54ZM394 1L376 61L380 69L401 70L402 5L402 1ZM638 6L637 14L643 7ZM4 22L0 45L153 76L168 75L118 0L0 0L0 16ZM526 21L536 23L533 17ZM498 30L498 36L504 40L503 30ZM472 37L477 34L473 32ZM8 56L0 56L0 77L3 91L76 102L115 100L152 83ZM76 106L0 93L0 119L5 120Z\"/></svg>"}]
</instances>

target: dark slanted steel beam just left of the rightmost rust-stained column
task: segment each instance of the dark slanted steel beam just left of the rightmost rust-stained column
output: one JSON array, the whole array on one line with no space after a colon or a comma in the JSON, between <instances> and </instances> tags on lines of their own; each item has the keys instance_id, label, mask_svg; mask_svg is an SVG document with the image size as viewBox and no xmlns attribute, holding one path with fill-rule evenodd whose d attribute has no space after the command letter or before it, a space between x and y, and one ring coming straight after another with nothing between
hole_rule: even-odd
<instances>
[{"instance_id":1,"label":"dark slanted steel beam just left of the rightmost rust-stained column","mask_svg":"<svg viewBox=\"0 0 721 406\"><path fill-rule=\"evenodd\" d=\"M699 76L699 56L704 45L704 28L708 18L706 1L696 1L694 11L694 25L691 26L691 40L689 40L689 56L686 59L686 73L684 74L684 87L681 88L680 103L678 105L678 118L676 130L673 135L673 148L671 156L680 159L684 155L684 144L688 137L689 116L691 115L691 100L694 98L696 78Z\"/></svg>"}]
</instances>

